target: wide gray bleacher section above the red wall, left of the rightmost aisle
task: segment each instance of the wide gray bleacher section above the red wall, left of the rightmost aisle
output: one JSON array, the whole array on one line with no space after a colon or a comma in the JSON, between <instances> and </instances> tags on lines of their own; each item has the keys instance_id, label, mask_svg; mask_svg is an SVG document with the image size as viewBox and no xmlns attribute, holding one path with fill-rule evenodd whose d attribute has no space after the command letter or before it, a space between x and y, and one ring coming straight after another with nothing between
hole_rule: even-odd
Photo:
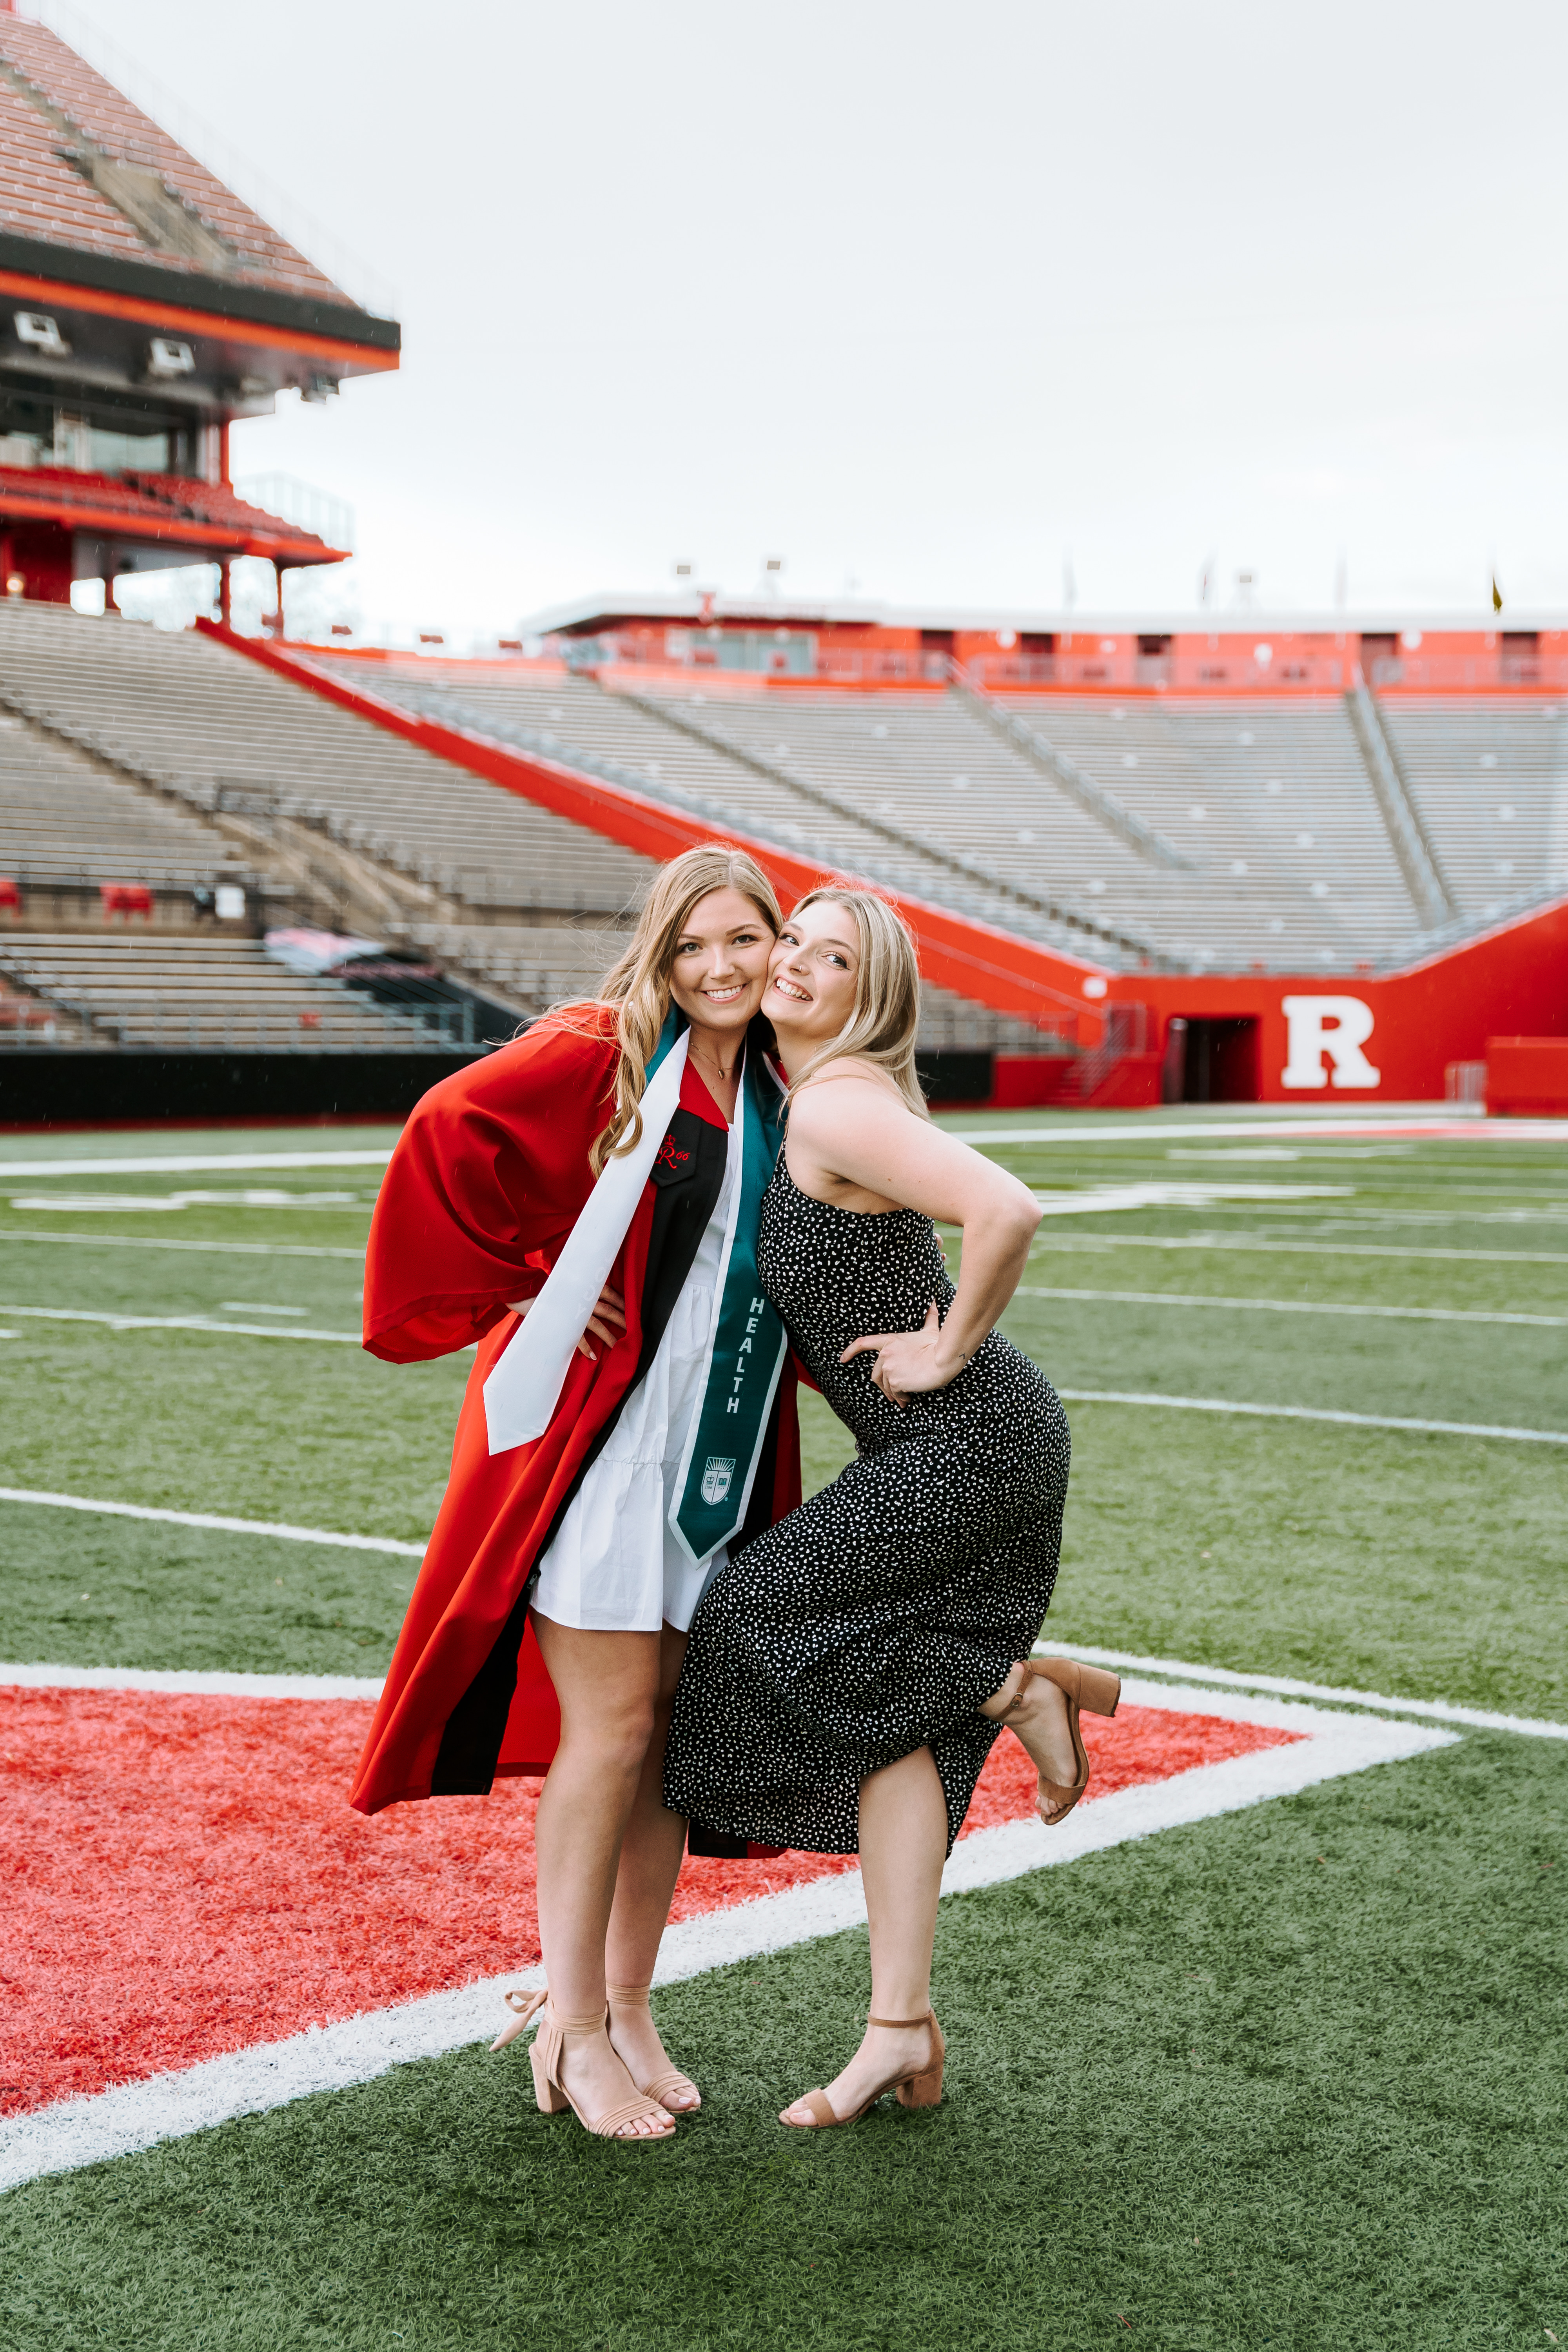
<instances>
[{"instance_id":1,"label":"wide gray bleacher section above the red wall, left of the rightmost aisle","mask_svg":"<svg viewBox=\"0 0 1568 2352\"><path fill-rule=\"evenodd\" d=\"M1418 929L1338 699L999 699L1182 866L1140 854L957 694L712 691L656 677L628 701L623 687L428 661L388 666L381 691L489 724L498 741L614 764L639 790L691 795L823 863L1121 969L1352 969L1396 955Z\"/></svg>"}]
</instances>

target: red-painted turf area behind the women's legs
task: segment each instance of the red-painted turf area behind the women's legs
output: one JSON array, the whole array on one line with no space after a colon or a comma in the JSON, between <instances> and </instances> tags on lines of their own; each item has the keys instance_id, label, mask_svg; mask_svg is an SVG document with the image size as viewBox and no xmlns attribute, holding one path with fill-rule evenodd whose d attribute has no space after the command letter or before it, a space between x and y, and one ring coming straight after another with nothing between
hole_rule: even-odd
<instances>
[{"instance_id":1,"label":"red-painted turf area behind the women's legs","mask_svg":"<svg viewBox=\"0 0 1568 2352\"><path fill-rule=\"evenodd\" d=\"M364 1820L369 1705L9 1689L0 2112L275 2042L538 1959L536 1785ZM1159 1708L1084 1719L1093 1797L1298 1733ZM1004 1736L966 1832L1025 1820ZM675 1917L853 1867L686 1860Z\"/></svg>"}]
</instances>

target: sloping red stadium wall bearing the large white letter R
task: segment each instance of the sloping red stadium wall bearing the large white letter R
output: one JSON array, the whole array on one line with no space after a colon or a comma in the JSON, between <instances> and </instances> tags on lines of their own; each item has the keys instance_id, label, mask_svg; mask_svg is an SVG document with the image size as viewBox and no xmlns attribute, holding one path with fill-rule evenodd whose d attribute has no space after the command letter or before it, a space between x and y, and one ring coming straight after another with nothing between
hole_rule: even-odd
<instances>
[{"instance_id":1,"label":"sloping red stadium wall bearing the large white letter R","mask_svg":"<svg viewBox=\"0 0 1568 2352\"><path fill-rule=\"evenodd\" d=\"M802 894L823 880L820 866L773 842L708 826L684 809L644 800L552 760L503 750L484 736L414 717L360 684L324 675L303 652L237 637L212 621L197 621L197 628L435 757L487 776L625 849L668 858L691 842L741 840L785 894ZM1246 1087L1232 1098L1307 1105L1436 1101L1443 1096L1446 1065L1483 1061L1488 1037L1568 1035L1568 891L1554 906L1408 971L1333 981L1321 974L1112 974L1088 957L1056 955L922 898L896 896L896 903L919 941L926 976L994 1011L1072 1028L1079 1044L1093 1047L1100 1042L1100 1014L1107 1004L1150 1009L1154 1035L1147 1037L1147 1051L1126 1056L1107 1075L1105 1089L1091 1098L1095 1108L1110 1108L1112 1101L1124 1108L1159 1101L1161 1056L1173 1018L1253 1023L1251 1030L1225 1033L1227 1080ZM1004 1063L999 1101L1006 1087L1006 1098L1023 1108L1018 1089L1048 1089L1058 1082L1048 1063L1034 1077L1013 1075ZM1046 1091L1034 1098L1051 1096Z\"/></svg>"}]
</instances>

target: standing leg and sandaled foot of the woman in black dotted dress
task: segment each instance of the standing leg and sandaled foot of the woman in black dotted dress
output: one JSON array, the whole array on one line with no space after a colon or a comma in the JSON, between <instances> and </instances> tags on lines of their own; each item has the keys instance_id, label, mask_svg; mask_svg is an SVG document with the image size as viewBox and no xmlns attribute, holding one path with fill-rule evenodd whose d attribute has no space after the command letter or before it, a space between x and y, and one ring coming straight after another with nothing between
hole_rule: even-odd
<instances>
[{"instance_id":1,"label":"standing leg and sandaled foot of the woman in black dotted dress","mask_svg":"<svg viewBox=\"0 0 1568 2352\"><path fill-rule=\"evenodd\" d=\"M947 1860L947 1802L929 1748L860 1783L860 1879L872 1931L872 2016L924 2018L931 2006L936 1903ZM825 2084L835 2114L853 2114L872 2091L926 2065L924 2025L867 2025L860 2049ZM811 2124L804 2103L783 2122Z\"/></svg>"}]
</instances>

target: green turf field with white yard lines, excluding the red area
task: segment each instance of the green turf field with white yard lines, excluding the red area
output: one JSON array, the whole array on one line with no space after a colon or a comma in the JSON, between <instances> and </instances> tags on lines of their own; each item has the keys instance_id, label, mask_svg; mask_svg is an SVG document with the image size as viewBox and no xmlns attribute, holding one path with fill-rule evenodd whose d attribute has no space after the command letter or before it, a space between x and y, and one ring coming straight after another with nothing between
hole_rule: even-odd
<instances>
[{"instance_id":1,"label":"green turf field with white yard lines, excluding the red area","mask_svg":"<svg viewBox=\"0 0 1568 2352\"><path fill-rule=\"evenodd\" d=\"M1143 1188L1039 1228L1009 1331L1063 1390L1568 1435L1563 1145L1206 1131L1234 1122L952 1122L1027 1129L987 1148L1046 1195ZM465 1357L54 1319L353 1334L374 1169L21 1167L378 1141L0 1138L0 1484L418 1541ZM179 1192L219 1197L146 1207ZM1568 1444L1070 1418L1053 1637L1568 1717ZM816 1399L804 1425L816 1482L842 1432ZM9 1661L355 1675L386 1663L414 1571L42 1503L0 1503L0 1562ZM1566 1799L1563 1743L1467 1731L952 1898L931 2117L773 2124L856 2030L846 1936L661 1997L708 2091L668 2150L550 2126L522 2065L465 2051L33 2183L0 2201L0 2340L1568 2343Z\"/></svg>"}]
</instances>

